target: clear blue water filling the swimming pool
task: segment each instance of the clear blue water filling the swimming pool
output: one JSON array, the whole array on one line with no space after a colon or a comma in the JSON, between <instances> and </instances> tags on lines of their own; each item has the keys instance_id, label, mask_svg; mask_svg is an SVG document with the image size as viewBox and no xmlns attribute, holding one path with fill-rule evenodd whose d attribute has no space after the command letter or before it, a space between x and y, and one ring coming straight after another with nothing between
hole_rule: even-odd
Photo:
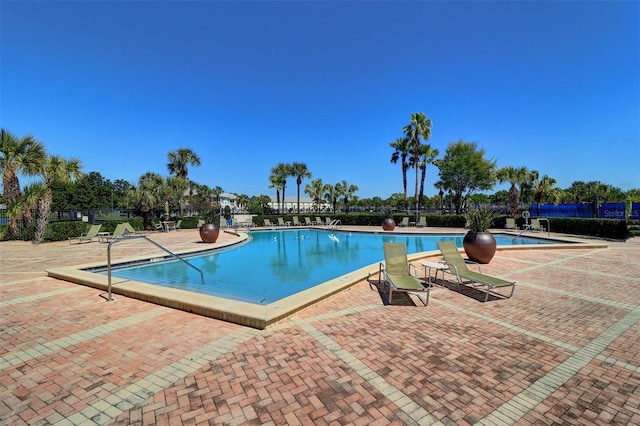
<instances>
[{"instance_id":1,"label":"clear blue water filling the swimming pool","mask_svg":"<svg viewBox=\"0 0 640 426\"><path fill-rule=\"evenodd\" d=\"M383 242L404 242L408 253L436 250L437 241L462 247L464 235L367 234L315 229L257 231L245 244L180 261L112 270L131 279L259 305L275 302L384 259ZM549 244L536 238L495 235L498 245Z\"/></svg>"}]
</instances>

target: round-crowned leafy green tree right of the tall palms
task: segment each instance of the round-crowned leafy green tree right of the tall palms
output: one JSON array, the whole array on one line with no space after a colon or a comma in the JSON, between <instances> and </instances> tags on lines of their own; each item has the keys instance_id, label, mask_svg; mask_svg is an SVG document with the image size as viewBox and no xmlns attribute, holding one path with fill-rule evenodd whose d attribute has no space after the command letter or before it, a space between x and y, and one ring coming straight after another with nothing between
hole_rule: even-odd
<instances>
[{"instance_id":1,"label":"round-crowned leafy green tree right of the tall palms","mask_svg":"<svg viewBox=\"0 0 640 426\"><path fill-rule=\"evenodd\" d=\"M456 214L466 208L471 195L490 190L496 181L495 161L485 159L484 154L484 149L478 149L476 142L460 139L450 143L444 157L436 160L440 169L438 183L452 192Z\"/></svg>"}]
</instances>

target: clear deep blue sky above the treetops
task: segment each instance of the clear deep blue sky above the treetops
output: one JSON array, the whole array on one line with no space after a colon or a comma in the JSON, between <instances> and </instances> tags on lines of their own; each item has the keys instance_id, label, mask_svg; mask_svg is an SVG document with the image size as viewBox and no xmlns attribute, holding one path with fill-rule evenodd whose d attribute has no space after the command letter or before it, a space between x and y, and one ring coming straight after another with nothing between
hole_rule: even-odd
<instances>
[{"instance_id":1,"label":"clear deep blue sky above the treetops","mask_svg":"<svg viewBox=\"0 0 640 426\"><path fill-rule=\"evenodd\" d=\"M0 16L1 126L110 180L167 175L189 147L189 177L227 192L274 195L270 169L298 161L386 198L402 192L389 142L424 112L441 155L463 138L563 188L640 187L637 1L1 1Z\"/></svg>"}]
</instances>

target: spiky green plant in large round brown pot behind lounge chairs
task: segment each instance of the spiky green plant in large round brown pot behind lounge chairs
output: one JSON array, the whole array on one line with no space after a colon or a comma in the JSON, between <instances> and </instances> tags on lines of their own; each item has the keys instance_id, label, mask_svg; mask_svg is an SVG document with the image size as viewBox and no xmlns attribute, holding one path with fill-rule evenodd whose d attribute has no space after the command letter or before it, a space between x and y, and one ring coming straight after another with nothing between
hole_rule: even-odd
<instances>
[{"instance_id":1,"label":"spiky green plant in large round brown pot behind lounge chairs","mask_svg":"<svg viewBox=\"0 0 640 426\"><path fill-rule=\"evenodd\" d=\"M478 207L469 210L464 217L469 226L462 241L467 257L474 262L489 263L496 254L496 239L488 229L497 215L486 207Z\"/></svg>"}]
</instances>

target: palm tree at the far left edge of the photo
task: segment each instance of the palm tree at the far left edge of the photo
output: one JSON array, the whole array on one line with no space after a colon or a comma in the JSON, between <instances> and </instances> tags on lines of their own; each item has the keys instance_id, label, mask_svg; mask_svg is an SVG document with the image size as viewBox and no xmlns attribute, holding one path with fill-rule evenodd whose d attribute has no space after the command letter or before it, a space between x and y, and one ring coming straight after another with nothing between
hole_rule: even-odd
<instances>
[{"instance_id":1,"label":"palm tree at the far left edge of the photo","mask_svg":"<svg viewBox=\"0 0 640 426\"><path fill-rule=\"evenodd\" d=\"M4 200L11 205L20 198L20 181L18 173L34 175L45 159L42 143L33 136L27 135L17 138L9 131L0 130L0 171L2 172L2 187L4 188ZM21 212L21 210L24 210ZM31 222L31 209L14 209L16 214L9 215L9 235L18 235L18 215L23 213L27 225Z\"/></svg>"}]
</instances>

